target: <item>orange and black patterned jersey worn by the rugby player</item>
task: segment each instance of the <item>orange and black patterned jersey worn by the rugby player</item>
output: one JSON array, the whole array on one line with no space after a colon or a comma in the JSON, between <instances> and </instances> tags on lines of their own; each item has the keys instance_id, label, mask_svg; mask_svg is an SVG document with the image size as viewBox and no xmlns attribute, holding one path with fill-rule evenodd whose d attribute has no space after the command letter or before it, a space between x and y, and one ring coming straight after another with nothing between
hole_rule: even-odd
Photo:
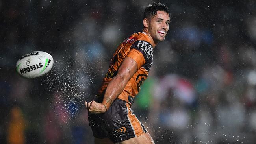
<instances>
[{"instance_id":1,"label":"orange and black patterned jersey worn by the rugby player","mask_svg":"<svg viewBox=\"0 0 256 144\"><path fill-rule=\"evenodd\" d=\"M111 59L108 72L102 81L102 86L98 90L97 95L104 96L108 83L117 74L122 61L125 57L130 57L136 61L138 70L128 81L124 90L117 98L132 105L134 97L138 94L143 81L147 79L148 72L152 66L153 46L151 43L152 41L150 41L150 38L144 32L134 33L122 42Z\"/></svg>"}]
</instances>

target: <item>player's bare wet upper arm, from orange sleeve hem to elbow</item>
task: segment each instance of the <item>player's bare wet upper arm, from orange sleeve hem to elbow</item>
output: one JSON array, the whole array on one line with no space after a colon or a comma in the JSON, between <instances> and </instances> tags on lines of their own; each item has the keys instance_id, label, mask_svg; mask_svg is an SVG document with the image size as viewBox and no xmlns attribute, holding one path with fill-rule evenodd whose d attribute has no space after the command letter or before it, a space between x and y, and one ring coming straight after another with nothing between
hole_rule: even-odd
<instances>
[{"instance_id":1,"label":"player's bare wet upper arm, from orange sleeve hem to elbow","mask_svg":"<svg viewBox=\"0 0 256 144\"><path fill-rule=\"evenodd\" d=\"M138 68L136 61L130 57L125 57L117 71L116 76L128 81L135 74L135 72L137 72L137 70Z\"/></svg>"}]
</instances>

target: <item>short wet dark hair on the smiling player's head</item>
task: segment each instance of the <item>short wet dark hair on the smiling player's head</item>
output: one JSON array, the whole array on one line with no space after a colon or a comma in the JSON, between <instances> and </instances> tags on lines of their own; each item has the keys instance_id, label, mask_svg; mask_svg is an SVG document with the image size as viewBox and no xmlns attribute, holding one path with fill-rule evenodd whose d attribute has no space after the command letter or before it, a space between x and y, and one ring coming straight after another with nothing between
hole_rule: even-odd
<instances>
[{"instance_id":1,"label":"short wet dark hair on the smiling player's head","mask_svg":"<svg viewBox=\"0 0 256 144\"><path fill-rule=\"evenodd\" d=\"M169 18L171 17L170 9L167 6L161 4L160 2L154 2L145 8L143 19L150 19L151 17L157 15L157 11L165 11L169 14Z\"/></svg>"}]
</instances>

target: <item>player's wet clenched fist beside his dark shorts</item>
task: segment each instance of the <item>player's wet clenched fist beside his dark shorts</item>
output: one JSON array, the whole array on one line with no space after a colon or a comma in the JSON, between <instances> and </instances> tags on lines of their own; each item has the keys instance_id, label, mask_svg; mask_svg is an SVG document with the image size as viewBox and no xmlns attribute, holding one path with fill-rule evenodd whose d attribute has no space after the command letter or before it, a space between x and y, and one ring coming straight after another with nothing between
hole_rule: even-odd
<instances>
[{"instance_id":1,"label":"player's wet clenched fist beside his dark shorts","mask_svg":"<svg viewBox=\"0 0 256 144\"><path fill-rule=\"evenodd\" d=\"M107 111L103 104L97 103L94 100L89 103L85 101L85 107L90 113L95 114L105 113Z\"/></svg>"}]
</instances>

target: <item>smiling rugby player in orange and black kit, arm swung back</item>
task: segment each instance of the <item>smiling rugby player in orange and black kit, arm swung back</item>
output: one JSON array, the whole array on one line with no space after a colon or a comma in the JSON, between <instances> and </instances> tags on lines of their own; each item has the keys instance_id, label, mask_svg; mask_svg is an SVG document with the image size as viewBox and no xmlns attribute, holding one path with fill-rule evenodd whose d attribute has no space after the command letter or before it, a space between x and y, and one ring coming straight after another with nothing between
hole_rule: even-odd
<instances>
[{"instance_id":1,"label":"smiling rugby player in orange and black kit, arm swung back","mask_svg":"<svg viewBox=\"0 0 256 144\"><path fill-rule=\"evenodd\" d=\"M169 30L170 15L164 4L154 2L146 7L142 32L118 46L97 95L85 102L95 144L154 144L131 106L148 77L153 50Z\"/></svg>"}]
</instances>

